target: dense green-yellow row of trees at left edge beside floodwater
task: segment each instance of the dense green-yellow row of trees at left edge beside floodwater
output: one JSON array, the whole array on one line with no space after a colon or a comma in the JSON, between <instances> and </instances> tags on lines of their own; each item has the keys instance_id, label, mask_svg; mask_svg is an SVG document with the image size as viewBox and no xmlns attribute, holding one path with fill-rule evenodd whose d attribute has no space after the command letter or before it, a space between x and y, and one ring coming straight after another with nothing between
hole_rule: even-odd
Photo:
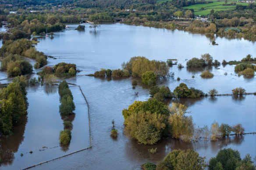
<instances>
[{"instance_id":1,"label":"dense green-yellow row of trees at left edge beside floodwater","mask_svg":"<svg viewBox=\"0 0 256 170\"><path fill-rule=\"evenodd\" d=\"M26 114L27 84L25 77L17 76L7 87L0 89L0 135L10 134L13 125Z\"/></svg>"}]
</instances>

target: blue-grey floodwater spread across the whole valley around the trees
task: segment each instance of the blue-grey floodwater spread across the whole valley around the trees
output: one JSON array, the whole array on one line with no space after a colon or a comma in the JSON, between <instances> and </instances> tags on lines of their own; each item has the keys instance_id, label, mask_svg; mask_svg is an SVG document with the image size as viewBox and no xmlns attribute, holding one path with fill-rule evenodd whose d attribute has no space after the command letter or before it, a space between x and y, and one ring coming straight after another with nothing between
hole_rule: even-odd
<instances>
[{"instance_id":1,"label":"blue-grey floodwater spread across the whole valley around the trees","mask_svg":"<svg viewBox=\"0 0 256 170\"><path fill-rule=\"evenodd\" d=\"M103 24L96 32L89 29L89 24L85 24L85 31L75 30L77 26L70 25L65 31L54 33L53 38L40 38L36 49L57 58L49 58L48 66L68 62L75 63L77 68L82 70L77 76L68 78L67 82L80 85L88 101L92 148L32 169L139 170L140 164L156 163L173 149L190 148L195 149L200 156L206 156L207 161L216 156L220 149L229 147L240 151L241 157L246 153L250 153L252 158L256 156L256 135L228 136L217 142L184 143L176 139L162 139L153 146L139 145L123 133L124 118L121 111L134 101L147 100L149 87L142 85L139 78L85 76L100 68L121 68L121 63L133 56L163 61L178 59L178 63L183 66L186 59L199 58L204 53L210 53L213 59L220 62L223 59L238 61L248 54L256 57L256 43L244 39L228 40L215 37L214 41L219 45L211 45L213 38L207 38L205 35L125 24ZM234 67L227 65L189 69L185 66L178 69L178 66L174 65L170 67L174 77L158 80L157 85L166 85L171 91L179 83L186 83L188 87L195 87L205 93L215 88L220 94L231 94L231 90L236 87L243 87L246 92L255 92L256 78L246 79L238 76ZM214 74L213 78L201 78L199 75L204 69L209 69ZM40 70L36 69L34 72ZM178 81L177 77L181 80ZM133 79L139 81L135 89L132 89ZM0 73L0 80L1 83L11 82L4 72ZM59 114L57 86L28 87L28 115L14 126L13 135L0 141L0 156L4 160L0 169L22 169L90 146L86 102L79 87L71 85L70 89L76 105L75 115L71 118L74 127L70 145L62 147L58 140L64 118ZM135 92L139 94L135 95ZM177 100L168 100L165 104L171 105L171 102L175 101ZM201 97L178 101L188 106L196 127L210 127L215 120L219 124L241 123L246 133L256 132L255 95ZM112 119L120 133L116 139L110 136ZM156 154L148 153L148 149L156 147ZM29 153L30 151L33 153Z\"/></svg>"}]
</instances>

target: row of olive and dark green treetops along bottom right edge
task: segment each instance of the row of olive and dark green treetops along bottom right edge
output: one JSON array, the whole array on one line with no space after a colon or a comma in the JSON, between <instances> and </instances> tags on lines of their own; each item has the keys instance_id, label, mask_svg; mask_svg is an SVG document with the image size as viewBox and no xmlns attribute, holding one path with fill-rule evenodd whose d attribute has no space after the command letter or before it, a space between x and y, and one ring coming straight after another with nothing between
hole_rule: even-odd
<instances>
[{"instance_id":1,"label":"row of olive and dark green treetops along bottom right edge","mask_svg":"<svg viewBox=\"0 0 256 170\"><path fill-rule=\"evenodd\" d=\"M144 163L144 170L255 170L252 157L249 154L241 159L238 150L231 148L220 149L216 157L210 159L209 165L205 162L206 157L201 157L193 149L174 149L159 161L157 165Z\"/></svg>"}]
</instances>

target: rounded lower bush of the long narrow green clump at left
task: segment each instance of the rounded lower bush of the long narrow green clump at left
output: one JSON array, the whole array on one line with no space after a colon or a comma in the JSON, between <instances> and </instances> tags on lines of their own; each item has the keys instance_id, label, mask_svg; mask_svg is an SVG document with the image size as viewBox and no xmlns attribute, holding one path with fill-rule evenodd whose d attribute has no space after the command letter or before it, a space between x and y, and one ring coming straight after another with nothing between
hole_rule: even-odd
<instances>
[{"instance_id":1,"label":"rounded lower bush of the long narrow green clump at left","mask_svg":"<svg viewBox=\"0 0 256 170\"><path fill-rule=\"evenodd\" d=\"M73 114L73 111L75 111L75 104L72 97L62 97L60 104L60 113L63 115L70 115Z\"/></svg>"}]
</instances>

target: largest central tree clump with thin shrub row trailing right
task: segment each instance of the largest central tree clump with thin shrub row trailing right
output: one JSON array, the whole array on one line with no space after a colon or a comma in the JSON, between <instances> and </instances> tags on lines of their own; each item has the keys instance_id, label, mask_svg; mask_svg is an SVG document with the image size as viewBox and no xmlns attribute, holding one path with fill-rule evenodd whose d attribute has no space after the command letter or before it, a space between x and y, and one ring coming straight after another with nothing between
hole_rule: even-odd
<instances>
[{"instance_id":1,"label":"largest central tree clump with thin shrub row trailing right","mask_svg":"<svg viewBox=\"0 0 256 170\"><path fill-rule=\"evenodd\" d=\"M219 124L214 121L209 130L208 126L195 128L192 116L188 116L188 108L180 103L172 103L167 108L155 98L147 101L135 101L128 109L124 109L124 132L140 144L153 145L163 136L171 136L184 142L197 141L199 139L213 141L221 136L243 134L245 129L241 124Z\"/></svg>"}]
</instances>

